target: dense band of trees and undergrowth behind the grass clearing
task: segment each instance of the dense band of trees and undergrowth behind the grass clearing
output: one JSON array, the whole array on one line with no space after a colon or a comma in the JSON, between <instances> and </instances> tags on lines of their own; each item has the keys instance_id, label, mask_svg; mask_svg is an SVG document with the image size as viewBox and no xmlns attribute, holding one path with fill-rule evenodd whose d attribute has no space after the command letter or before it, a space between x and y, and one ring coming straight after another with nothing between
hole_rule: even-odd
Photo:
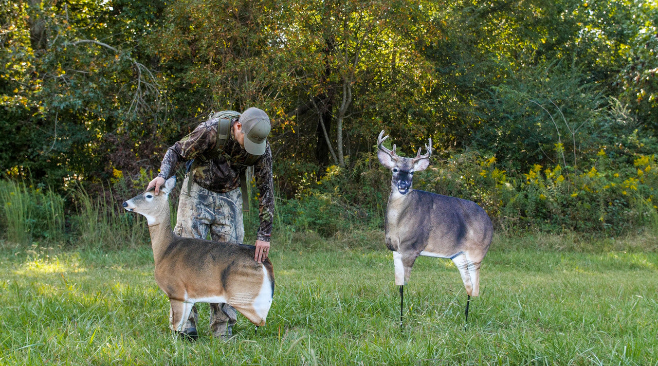
<instances>
[{"instance_id":1,"label":"dense band of trees and undergrowth behind the grass clearing","mask_svg":"<svg viewBox=\"0 0 658 366\"><path fill-rule=\"evenodd\" d=\"M415 188L497 232L655 234L657 26L655 0L0 0L1 239L124 245L166 148L251 106L280 235L383 228L380 130L432 138Z\"/></svg>"}]
</instances>

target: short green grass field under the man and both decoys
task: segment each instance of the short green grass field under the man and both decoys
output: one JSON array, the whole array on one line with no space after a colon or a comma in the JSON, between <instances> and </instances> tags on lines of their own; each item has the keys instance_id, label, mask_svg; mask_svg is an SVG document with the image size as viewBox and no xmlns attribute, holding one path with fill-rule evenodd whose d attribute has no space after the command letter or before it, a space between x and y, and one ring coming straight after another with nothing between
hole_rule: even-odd
<instances>
[{"instance_id":1,"label":"short green grass field under the man and both decoys","mask_svg":"<svg viewBox=\"0 0 658 366\"><path fill-rule=\"evenodd\" d=\"M383 238L383 233L381 233ZM420 257L405 286L372 236L272 252L268 323L236 338L168 330L151 248L0 252L1 365L657 365L658 254L536 249L495 238L470 305L451 261ZM294 241L294 238L293 238Z\"/></svg>"}]
</instances>

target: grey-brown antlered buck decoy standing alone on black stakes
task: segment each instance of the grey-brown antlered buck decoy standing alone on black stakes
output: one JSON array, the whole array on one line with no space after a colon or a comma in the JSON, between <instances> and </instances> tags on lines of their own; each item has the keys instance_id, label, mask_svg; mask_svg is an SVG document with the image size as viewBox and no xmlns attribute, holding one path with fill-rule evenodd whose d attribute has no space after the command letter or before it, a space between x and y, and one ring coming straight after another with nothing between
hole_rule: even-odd
<instances>
[{"instance_id":1,"label":"grey-brown antlered buck decoy standing alone on black stakes","mask_svg":"<svg viewBox=\"0 0 658 366\"><path fill-rule=\"evenodd\" d=\"M393 251L395 284L409 282L419 255L452 259L459 269L468 298L480 294L480 263L493 236L487 213L472 201L413 190L413 173L429 166L432 140L427 153L415 158L399 157L382 145L388 136L379 135L377 157L393 172L386 207L386 247ZM400 294L403 294L400 287ZM468 317L468 302L467 302Z\"/></svg>"}]
</instances>

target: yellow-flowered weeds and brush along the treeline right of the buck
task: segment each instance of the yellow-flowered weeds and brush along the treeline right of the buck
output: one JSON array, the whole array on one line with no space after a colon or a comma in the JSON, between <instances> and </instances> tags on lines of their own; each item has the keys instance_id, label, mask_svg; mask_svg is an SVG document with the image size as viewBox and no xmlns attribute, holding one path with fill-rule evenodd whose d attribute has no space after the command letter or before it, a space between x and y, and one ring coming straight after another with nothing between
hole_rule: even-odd
<instances>
[{"instance_id":1,"label":"yellow-flowered weeds and brush along the treeline right of the buck","mask_svg":"<svg viewBox=\"0 0 658 366\"><path fill-rule=\"evenodd\" d=\"M454 155L418 176L419 189L472 199L497 225L512 232L587 232L619 236L653 225L657 186L654 155L638 155L633 167L610 164L605 151L582 170L534 165L508 176L495 157Z\"/></svg>"}]
</instances>

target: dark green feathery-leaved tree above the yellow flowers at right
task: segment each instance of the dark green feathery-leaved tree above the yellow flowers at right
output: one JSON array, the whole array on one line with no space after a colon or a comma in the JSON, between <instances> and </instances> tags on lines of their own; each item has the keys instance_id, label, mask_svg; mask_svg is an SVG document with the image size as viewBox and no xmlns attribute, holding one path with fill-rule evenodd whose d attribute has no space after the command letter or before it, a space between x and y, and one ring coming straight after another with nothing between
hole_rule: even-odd
<instances>
[{"instance_id":1,"label":"dark green feathery-leaved tree above the yellow flowers at right","mask_svg":"<svg viewBox=\"0 0 658 366\"><path fill-rule=\"evenodd\" d=\"M476 134L477 147L509 162L508 169L577 167L583 155L605 144L595 134L605 99L582 75L571 65L538 65L493 87L482 105L489 122Z\"/></svg>"}]
</instances>

